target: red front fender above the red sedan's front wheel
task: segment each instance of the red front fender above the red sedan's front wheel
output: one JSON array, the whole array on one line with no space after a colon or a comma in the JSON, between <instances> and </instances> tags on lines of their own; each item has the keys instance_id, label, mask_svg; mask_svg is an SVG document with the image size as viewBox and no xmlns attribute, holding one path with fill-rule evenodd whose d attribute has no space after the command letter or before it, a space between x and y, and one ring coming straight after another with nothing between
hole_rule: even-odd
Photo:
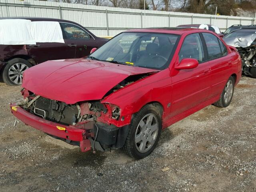
<instances>
[{"instance_id":1,"label":"red front fender above the red sedan's front wheel","mask_svg":"<svg viewBox=\"0 0 256 192\"><path fill-rule=\"evenodd\" d=\"M169 68L134 82L102 100L120 106L121 116L138 112L150 102L159 102L163 107L163 116L170 114L172 82Z\"/></svg>"}]
</instances>

